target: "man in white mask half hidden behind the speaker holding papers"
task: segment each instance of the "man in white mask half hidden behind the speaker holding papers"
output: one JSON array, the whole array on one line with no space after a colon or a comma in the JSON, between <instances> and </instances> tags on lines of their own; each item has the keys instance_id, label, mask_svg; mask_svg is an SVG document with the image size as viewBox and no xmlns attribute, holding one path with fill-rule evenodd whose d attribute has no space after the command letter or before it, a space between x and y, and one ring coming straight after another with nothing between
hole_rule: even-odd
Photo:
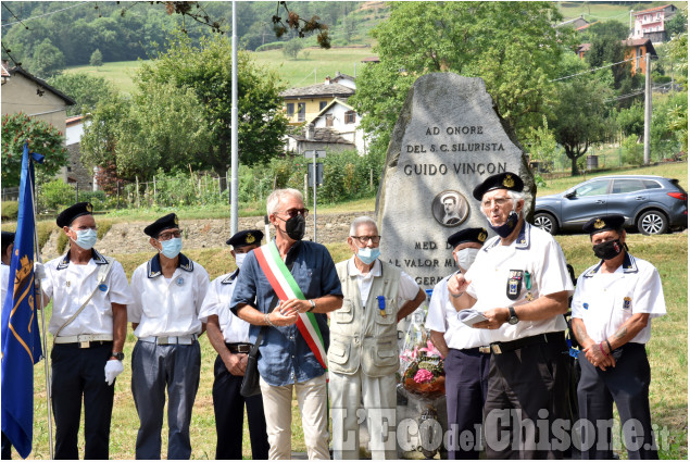
<instances>
[{"instance_id":1,"label":"man in white mask half hidden behind the speaker holding papers","mask_svg":"<svg viewBox=\"0 0 690 462\"><path fill-rule=\"evenodd\" d=\"M485 228L466 228L448 238L459 272L469 270L487 236ZM431 332L431 341L443 355L448 428L453 432L447 448L448 459L479 459L490 349L482 329L473 329L457 319L457 311L448 296L451 276L434 287L426 327Z\"/></svg>"}]
</instances>

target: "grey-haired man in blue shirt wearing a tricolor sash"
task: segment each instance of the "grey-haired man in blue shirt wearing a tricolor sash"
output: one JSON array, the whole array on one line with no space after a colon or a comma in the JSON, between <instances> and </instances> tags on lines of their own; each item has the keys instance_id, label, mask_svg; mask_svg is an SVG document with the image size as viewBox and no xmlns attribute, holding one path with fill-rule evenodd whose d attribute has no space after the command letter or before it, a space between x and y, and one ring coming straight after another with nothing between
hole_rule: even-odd
<instances>
[{"instance_id":1,"label":"grey-haired man in blue shirt wearing a tricolor sash","mask_svg":"<svg viewBox=\"0 0 690 462\"><path fill-rule=\"evenodd\" d=\"M230 308L252 325L250 341L262 335L258 364L268 458L291 457L294 388L309 459L330 459L326 313L342 305L340 280L328 250L302 241L309 210L300 191L273 191L266 209L276 237L247 255Z\"/></svg>"}]
</instances>

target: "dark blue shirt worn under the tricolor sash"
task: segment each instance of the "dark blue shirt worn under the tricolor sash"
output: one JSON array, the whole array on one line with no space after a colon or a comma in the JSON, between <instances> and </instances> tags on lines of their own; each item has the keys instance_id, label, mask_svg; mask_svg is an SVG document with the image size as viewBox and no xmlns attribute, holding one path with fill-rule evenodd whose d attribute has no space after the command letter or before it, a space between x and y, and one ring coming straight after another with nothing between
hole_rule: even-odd
<instances>
[{"instance_id":1,"label":"dark blue shirt worn under the tricolor sash","mask_svg":"<svg viewBox=\"0 0 690 462\"><path fill-rule=\"evenodd\" d=\"M274 239L275 241L275 239ZM340 279L328 250L321 244L297 241L286 255L286 264L306 299L328 295L342 297ZM230 310L237 314L238 304L250 304L262 313L272 312L278 304L278 297L264 275L256 255L251 251L242 263L233 294ZM330 333L327 316L315 313L316 322L328 350ZM256 341L262 326L249 328L250 341ZM326 372L306 345L296 324L267 327L259 347L259 373L268 385L284 386L302 383L318 377Z\"/></svg>"}]
</instances>

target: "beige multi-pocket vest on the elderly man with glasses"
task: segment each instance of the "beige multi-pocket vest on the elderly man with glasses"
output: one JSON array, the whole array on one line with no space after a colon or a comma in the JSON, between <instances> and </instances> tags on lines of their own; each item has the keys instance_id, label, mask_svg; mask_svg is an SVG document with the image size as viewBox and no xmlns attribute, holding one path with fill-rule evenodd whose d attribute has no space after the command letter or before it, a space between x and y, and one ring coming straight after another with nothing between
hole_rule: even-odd
<instances>
[{"instance_id":1,"label":"beige multi-pocket vest on the elderly man with glasses","mask_svg":"<svg viewBox=\"0 0 690 462\"><path fill-rule=\"evenodd\" d=\"M344 299L330 315L328 370L338 374L362 372L372 377L394 374L398 358L398 287L401 270L381 262L381 275L374 277L362 307L356 275L348 272L348 260L336 265ZM386 315L378 308L378 296L386 298Z\"/></svg>"}]
</instances>

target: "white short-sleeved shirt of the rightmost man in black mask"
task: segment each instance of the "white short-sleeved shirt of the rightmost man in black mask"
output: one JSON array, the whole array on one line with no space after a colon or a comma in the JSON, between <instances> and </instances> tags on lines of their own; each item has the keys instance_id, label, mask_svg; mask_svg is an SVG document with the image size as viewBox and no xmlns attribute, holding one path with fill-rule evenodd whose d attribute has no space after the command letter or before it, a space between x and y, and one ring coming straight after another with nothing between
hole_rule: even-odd
<instances>
[{"instance_id":1,"label":"white short-sleeved shirt of the rightmost man in black mask","mask_svg":"<svg viewBox=\"0 0 690 462\"><path fill-rule=\"evenodd\" d=\"M602 274L601 265L580 275L572 303L573 317L582 320L592 340L604 341L636 313L666 314L662 279L651 263L626 253L615 273ZM647 344L651 335L652 323L648 323L630 341Z\"/></svg>"}]
</instances>

